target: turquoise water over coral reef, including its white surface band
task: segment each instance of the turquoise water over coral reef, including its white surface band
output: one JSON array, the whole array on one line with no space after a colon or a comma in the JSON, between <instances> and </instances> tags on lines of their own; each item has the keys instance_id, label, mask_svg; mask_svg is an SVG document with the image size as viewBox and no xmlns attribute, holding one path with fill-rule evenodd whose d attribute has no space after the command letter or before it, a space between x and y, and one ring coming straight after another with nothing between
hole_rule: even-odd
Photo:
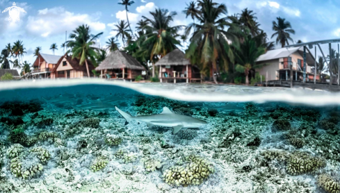
<instances>
[{"instance_id":1,"label":"turquoise water over coral reef, including its white surface band","mask_svg":"<svg viewBox=\"0 0 340 193\"><path fill-rule=\"evenodd\" d=\"M0 192L340 191L339 103L280 87L1 82Z\"/></svg>"}]
</instances>

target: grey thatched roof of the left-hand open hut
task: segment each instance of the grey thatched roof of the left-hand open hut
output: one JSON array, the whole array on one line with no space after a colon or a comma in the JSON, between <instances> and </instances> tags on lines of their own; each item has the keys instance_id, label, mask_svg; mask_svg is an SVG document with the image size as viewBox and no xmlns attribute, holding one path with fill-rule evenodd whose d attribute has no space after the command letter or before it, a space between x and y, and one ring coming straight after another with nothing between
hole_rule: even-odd
<instances>
[{"instance_id":1,"label":"grey thatched roof of the left-hand open hut","mask_svg":"<svg viewBox=\"0 0 340 193\"><path fill-rule=\"evenodd\" d=\"M96 70L121 68L145 70L135 58L119 50L111 52Z\"/></svg>"}]
</instances>

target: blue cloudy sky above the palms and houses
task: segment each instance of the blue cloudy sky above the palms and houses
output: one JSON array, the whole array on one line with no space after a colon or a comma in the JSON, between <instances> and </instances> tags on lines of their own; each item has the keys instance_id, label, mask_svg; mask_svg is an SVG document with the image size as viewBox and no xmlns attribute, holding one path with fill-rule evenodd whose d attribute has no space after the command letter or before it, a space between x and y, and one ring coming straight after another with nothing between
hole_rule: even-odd
<instances>
[{"instance_id":1,"label":"blue cloudy sky above the palms and houses","mask_svg":"<svg viewBox=\"0 0 340 193\"><path fill-rule=\"evenodd\" d=\"M315 40L327 40L340 38L340 1L334 0L215 0L217 3L225 3L228 15L234 15L248 8L256 13L257 21L270 37L273 21L276 17L284 17L291 22L296 31L292 35L296 42L310 42ZM33 64L35 58L33 51L36 47L42 47L41 53L53 54L49 48L56 43L58 50L56 55L62 56L60 47L65 42L65 31L68 35L79 25L88 24L92 34L103 32L97 40L97 47L105 47L105 42L115 36L112 31L114 24L120 20L126 20L124 6L118 5L118 0L26 0L15 1L18 7L26 13L20 12L19 22L9 22L8 12L3 12L13 5L13 1L0 0L0 49L6 44L22 40L26 48L24 60ZM186 18L182 10L190 0L134 0L129 7L129 21L134 31L136 23L142 16L149 17L149 11L155 8L165 8L177 12L172 25L187 25L192 22L191 17ZM274 41L275 38L270 39ZM120 40L120 42L122 42ZM292 42L290 42L291 44ZM121 43L122 45L122 43ZM185 47L186 45L184 45ZM335 44L333 44L336 47ZM277 45L277 47L280 47ZM324 49L327 53L327 50Z\"/></svg>"}]
</instances>

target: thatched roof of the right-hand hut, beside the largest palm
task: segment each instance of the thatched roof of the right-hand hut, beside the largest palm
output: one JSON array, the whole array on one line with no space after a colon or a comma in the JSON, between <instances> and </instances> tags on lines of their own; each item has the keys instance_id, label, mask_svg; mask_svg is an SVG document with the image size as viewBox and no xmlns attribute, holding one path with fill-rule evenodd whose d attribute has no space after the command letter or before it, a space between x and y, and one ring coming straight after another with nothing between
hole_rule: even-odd
<instances>
[{"instance_id":1,"label":"thatched roof of the right-hand hut, beside the largest palm","mask_svg":"<svg viewBox=\"0 0 340 193\"><path fill-rule=\"evenodd\" d=\"M190 60L186 58L183 51L175 49L174 51L165 55L161 60L156 62L156 66L178 66L178 65L191 65Z\"/></svg>"}]
</instances>

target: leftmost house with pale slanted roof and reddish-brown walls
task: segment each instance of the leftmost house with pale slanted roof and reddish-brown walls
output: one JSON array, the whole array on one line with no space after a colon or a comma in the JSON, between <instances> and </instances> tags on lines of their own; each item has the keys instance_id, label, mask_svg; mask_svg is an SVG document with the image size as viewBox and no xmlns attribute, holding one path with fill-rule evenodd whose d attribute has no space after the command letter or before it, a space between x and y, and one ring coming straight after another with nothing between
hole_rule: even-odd
<instances>
[{"instance_id":1,"label":"leftmost house with pale slanted roof and reddish-brown walls","mask_svg":"<svg viewBox=\"0 0 340 193\"><path fill-rule=\"evenodd\" d=\"M58 60L63 56L54 56L46 53L39 53L33 63L33 71L27 74L31 78L51 78L51 71L56 67Z\"/></svg>"}]
</instances>

